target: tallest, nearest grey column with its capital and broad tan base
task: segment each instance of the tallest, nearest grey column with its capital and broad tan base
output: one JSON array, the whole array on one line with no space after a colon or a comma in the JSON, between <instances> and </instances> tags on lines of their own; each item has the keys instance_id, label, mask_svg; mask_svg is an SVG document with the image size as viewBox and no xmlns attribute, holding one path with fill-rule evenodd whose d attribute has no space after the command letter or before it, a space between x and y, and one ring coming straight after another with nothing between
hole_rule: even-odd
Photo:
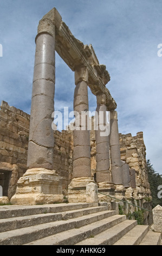
<instances>
[{"instance_id":1,"label":"tallest, nearest grey column with its capital and broad tan base","mask_svg":"<svg viewBox=\"0 0 162 256\"><path fill-rule=\"evenodd\" d=\"M55 93L55 27L42 19L36 36L27 172L18 180L11 202L62 202L61 179L53 169L54 131L51 114Z\"/></svg>"}]
</instances>

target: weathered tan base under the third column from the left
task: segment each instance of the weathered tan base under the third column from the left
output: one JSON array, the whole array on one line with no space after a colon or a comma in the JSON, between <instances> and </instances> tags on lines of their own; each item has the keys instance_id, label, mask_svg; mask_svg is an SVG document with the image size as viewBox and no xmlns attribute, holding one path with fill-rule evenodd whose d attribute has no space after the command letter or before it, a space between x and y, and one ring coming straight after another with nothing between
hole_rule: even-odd
<instances>
[{"instance_id":1,"label":"weathered tan base under the third column from the left","mask_svg":"<svg viewBox=\"0 0 162 256\"><path fill-rule=\"evenodd\" d=\"M111 202L113 199L111 197L108 197L104 194L107 194L109 196L114 196L115 194L115 185L113 182L99 182L98 183L98 193L99 202Z\"/></svg>"}]
</instances>

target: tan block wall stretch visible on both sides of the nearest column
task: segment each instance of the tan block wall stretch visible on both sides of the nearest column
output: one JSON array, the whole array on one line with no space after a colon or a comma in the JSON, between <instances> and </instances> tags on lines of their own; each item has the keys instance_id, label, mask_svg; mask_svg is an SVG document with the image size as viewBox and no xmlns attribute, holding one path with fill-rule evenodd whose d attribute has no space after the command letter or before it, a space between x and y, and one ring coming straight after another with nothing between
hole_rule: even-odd
<instances>
[{"instance_id":1,"label":"tan block wall stretch visible on both sides of the nearest column","mask_svg":"<svg viewBox=\"0 0 162 256\"><path fill-rule=\"evenodd\" d=\"M30 115L2 101L0 110L0 185L3 196L11 198L17 180L27 170ZM73 170L73 139L67 131L54 132L54 166L62 176L63 193L67 193Z\"/></svg>"}]
</instances>

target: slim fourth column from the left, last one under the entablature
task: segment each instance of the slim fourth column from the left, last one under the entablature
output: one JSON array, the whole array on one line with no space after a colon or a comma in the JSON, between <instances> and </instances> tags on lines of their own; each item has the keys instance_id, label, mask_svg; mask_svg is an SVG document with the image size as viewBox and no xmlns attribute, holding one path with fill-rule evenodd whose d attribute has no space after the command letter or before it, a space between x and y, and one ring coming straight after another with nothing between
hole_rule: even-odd
<instances>
[{"instance_id":1,"label":"slim fourth column from the left, last one under the entablature","mask_svg":"<svg viewBox=\"0 0 162 256\"><path fill-rule=\"evenodd\" d=\"M116 185L115 193L123 194L124 187L122 185L118 115L116 111L110 111L109 145L110 145L110 151L111 151L112 181Z\"/></svg>"}]
</instances>

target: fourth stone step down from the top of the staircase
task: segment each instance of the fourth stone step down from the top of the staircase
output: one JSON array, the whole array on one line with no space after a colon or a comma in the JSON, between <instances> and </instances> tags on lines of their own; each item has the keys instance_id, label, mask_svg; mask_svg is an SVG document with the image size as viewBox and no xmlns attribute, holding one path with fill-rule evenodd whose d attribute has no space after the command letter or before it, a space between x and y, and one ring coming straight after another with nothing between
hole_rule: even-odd
<instances>
[{"instance_id":1,"label":"fourth stone step down from the top of the staircase","mask_svg":"<svg viewBox=\"0 0 162 256\"><path fill-rule=\"evenodd\" d=\"M25 243L25 245L76 245L76 243L85 240L90 236L97 235L104 230L109 230L114 225L125 220L125 215L113 215L108 218L104 218L103 220L84 225L83 227L66 230L59 234Z\"/></svg>"}]
</instances>

